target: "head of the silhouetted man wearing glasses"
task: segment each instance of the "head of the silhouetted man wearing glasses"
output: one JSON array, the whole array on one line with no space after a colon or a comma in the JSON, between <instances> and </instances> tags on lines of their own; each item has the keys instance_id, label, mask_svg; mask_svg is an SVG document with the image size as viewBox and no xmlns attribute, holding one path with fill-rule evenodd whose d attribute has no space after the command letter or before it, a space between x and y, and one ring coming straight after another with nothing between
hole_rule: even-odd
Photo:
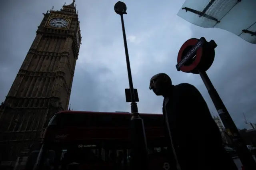
<instances>
[{"instance_id":1,"label":"head of the silhouetted man wearing glasses","mask_svg":"<svg viewBox=\"0 0 256 170\"><path fill-rule=\"evenodd\" d=\"M171 78L165 73L159 73L150 79L149 89L153 90L157 96L162 96L171 85Z\"/></svg>"}]
</instances>

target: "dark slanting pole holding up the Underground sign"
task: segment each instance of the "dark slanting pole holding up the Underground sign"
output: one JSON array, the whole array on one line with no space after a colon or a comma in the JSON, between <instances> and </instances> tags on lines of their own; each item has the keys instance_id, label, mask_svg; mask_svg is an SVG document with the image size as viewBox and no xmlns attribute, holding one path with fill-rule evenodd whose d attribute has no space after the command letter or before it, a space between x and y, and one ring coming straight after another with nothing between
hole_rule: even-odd
<instances>
[{"instance_id":1,"label":"dark slanting pole holding up the Underground sign","mask_svg":"<svg viewBox=\"0 0 256 170\"><path fill-rule=\"evenodd\" d=\"M216 110L218 111L218 114L220 116L220 119L224 127L226 128L227 132L229 133L229 136L232 139L234 147L238 152L238 156L245 170L256 170L256 162L252 157L252 154L249 152L248 148L246 147L246 144L244 140L241 138L240 133L238 132L238 129L234 121L230 117L228 110L226 109L224 103L222 102L222 99L218 95L218 92L214 88L208 75L206 74L205 71L199 72L199 74L206 86L206 89L208 90L208 93L212 99L212 102L214 103Z\"/></svg>"}]
</instances>

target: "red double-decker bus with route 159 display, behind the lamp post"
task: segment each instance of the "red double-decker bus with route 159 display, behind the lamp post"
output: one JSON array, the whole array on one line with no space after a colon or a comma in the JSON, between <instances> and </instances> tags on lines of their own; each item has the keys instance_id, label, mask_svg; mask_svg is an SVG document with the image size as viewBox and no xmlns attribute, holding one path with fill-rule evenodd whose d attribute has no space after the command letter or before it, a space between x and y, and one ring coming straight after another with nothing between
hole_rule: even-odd
<instances>
[{"instance_id":1,"label":"red double-decker bus with route 159 display, behind the lamp post","mask_svg":"<svg viewBox=\"0 0 256 170\"><path fill-rule=\"evenodd\" d=\"M162 114L144 120L151 170L168 169ZM61 111L53 115L30 170L128 170L132 163L130 113ZM35 155L33 155L34 157ZM31 161L30 161L31 160Z\"/></svg>"}]
</instances>

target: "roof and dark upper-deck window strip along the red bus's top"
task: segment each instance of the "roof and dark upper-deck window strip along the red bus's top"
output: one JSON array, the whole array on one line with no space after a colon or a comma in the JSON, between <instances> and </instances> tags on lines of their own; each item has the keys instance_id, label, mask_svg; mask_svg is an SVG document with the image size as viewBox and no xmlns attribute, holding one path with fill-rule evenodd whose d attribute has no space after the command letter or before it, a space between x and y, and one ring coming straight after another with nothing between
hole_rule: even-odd
<instances>
[{"instance_id":1,"label":"roof and dark upper-deck window strip along the red bus's top","mask_svg":"<svg viewBox=\"0 0 256 170\"><path fill-rule=\"evenodd\" d=\"M145 126L162 126L163 115L142 113L140 117ZM80 125L83 127L129 127L131 113L123 112L91 112L91 111L60 111L52 117L49 125Z\"/></svg>"}]
</instances>

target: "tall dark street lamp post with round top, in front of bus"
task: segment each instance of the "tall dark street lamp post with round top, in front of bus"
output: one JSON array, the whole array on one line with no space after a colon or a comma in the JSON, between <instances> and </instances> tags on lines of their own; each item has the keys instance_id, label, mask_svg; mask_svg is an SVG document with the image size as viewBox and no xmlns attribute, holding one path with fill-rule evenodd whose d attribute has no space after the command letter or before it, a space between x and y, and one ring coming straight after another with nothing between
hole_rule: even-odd
<instances>
[{"instance_id":1,"label":"tall dark street lamp post with round top, in front of bus","mask_svg":"<svg viewBox=\"0 0 256 170\"><path fill-rule=\"evenodd\" d=\"M132 83L132 73L130 67L130 60L128 54L128 47L126 41L126 34L124 29L124 14L126 13L126 4L124 2L118 1L115 6L115 12L121 16L122 22L122 32L124 38L124 50L126 56L126 65L129 79L130 91L126 91L126 102L131 102L131 112L132 117L130 120L131 125L131 142L132 142L132 164L133 170L148 170L148 148L146 142L146 135L144 129L143 120L140 118L138 113L138 106L136 101L138 101L138 93L134 93L135 89ZM137 92L137 91L136 91ZM130 98L130 99L127 99ZM136 100L137 99L137 100Z\"/></svg>"}]
</instances>

